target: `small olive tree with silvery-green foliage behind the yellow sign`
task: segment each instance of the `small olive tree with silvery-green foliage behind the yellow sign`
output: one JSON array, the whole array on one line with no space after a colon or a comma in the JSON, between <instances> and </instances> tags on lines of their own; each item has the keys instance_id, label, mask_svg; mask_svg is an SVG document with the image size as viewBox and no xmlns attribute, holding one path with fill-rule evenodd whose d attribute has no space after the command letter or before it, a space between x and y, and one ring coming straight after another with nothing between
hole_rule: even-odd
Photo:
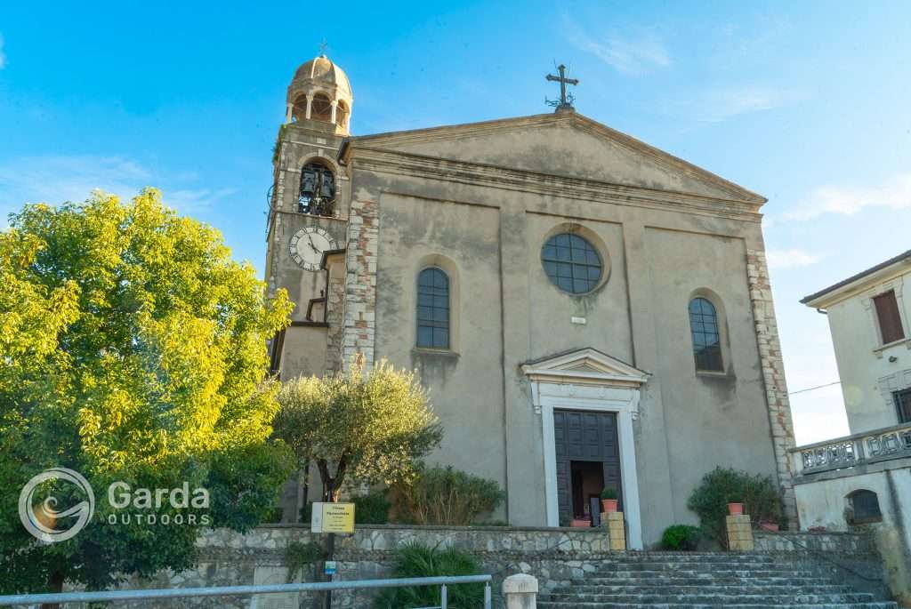
<instances>
[{"instance_id":1,"label":"small olive tree with silvery-green foliage behind the yellow sign","mask_svg":"<svg viewBox=\"0 0 911 609\"><path fill-rule=\"evenodd\" d=\"M275 435L298 462L316 464L323 502L338 500L346 477L368 484L411 478L417 460L443 438L414 373L384 360L369 373L356 361L345 373L293 379L278 400Z\"/></svg>"}]
</instances>

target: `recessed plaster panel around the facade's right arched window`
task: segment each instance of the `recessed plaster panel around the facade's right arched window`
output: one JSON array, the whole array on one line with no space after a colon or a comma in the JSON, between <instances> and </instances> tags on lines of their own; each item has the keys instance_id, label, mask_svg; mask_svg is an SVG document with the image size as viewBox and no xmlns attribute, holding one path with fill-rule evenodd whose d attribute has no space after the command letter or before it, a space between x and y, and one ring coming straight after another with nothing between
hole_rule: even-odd
<instances>
[{"instance_id":1,"label":"recessed plaster panel around the facade's right arched window","mask_svg":"<svg viewBox=\"0 0 911 609\"><path fill-rule=\"evenodd\" d=\"M775 477L742 237L647 228L658 366L668 442L674 520L697 523L686 503L715 466ZM693 364L688 305L715 305L722 330L722 372ZM710 448L711 447L711 448Z\"/></svg>"}]
</instances>

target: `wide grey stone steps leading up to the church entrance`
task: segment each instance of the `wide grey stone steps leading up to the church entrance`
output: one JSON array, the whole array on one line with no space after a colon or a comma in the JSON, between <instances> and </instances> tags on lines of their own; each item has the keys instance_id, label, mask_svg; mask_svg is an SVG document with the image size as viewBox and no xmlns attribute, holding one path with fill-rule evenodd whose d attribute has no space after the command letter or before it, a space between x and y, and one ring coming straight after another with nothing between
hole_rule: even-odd
<instances>
[{"instance_id":1,"label":"wide grey stone steps leading up to the church entrance","mask_svg":"<svg viewBox=\"0 0 911 609\"><path fill-rule=\"evenodd\" d=\"M542 593L542 609L896 609L807 561L765 553L622 553Z\"/></svg>"}]
</instances>

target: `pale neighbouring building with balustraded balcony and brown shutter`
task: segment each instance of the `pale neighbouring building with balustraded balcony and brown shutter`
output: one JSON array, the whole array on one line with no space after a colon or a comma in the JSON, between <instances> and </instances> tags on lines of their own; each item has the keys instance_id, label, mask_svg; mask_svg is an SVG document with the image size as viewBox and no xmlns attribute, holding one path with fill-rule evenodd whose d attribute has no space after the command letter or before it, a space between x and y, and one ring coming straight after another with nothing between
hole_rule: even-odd
<instances>
[{"instance_id":1,"label":"pale neighbouring building with balustraded balcony and brown shutter","mask_svg":"<svg viewBox=\"0 0 911 609\"><path fill-rule=\"evenodd\" d=\"M807 296L827 314L852 435L793 451L801 526L872 530L911 606L911 250Z\"/></svg>"}]
</instances>

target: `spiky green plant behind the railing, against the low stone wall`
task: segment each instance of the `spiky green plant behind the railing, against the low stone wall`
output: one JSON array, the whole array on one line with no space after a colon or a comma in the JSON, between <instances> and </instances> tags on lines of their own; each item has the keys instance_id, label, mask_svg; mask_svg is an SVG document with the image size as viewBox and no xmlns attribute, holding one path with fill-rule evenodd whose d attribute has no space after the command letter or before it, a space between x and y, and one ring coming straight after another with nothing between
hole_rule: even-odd
<instances>
[{"instance_id":1,"label":"spiky green plant behind the railing, against the low stone wall","mask_svg":"<svg viewBox=\"0 0 911 609\"><path fill-rule=\"evenodd\" d=\"M474 556L455 548L440 549L439 545L404 543L395 549L394 577L441 577L477 575L481 564ZM446 586L446 599L451 609L475 609L484 604L484 584ZM440 604L439 586L386 588L374 601L375 609L431 607Z\"/></svg>"}]
</instances>

